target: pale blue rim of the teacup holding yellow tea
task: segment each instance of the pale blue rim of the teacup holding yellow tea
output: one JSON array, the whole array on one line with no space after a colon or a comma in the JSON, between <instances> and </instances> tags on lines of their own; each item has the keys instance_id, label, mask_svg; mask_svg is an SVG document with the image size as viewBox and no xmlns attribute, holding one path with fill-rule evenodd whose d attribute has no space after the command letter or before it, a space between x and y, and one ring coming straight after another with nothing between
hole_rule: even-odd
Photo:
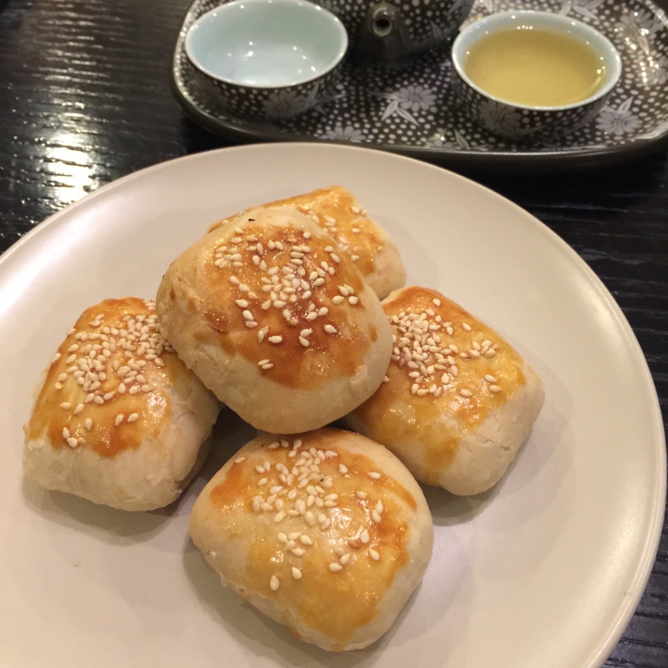
<instances>
[{"instance_id":1,"label":"pale blue rim of the teacup holding yellow tea","mask_svg":"<svg viewBox=\"0 0 668 668\"><path fill-rule=\"evenodd\" d=\"M508 19L513 19L514 17L518 17L518 19L520 19L521 17L527 17L527 16L529 17L534 16L545 20L546 22L550 23L550 28L554 30L562 30L566 26L572 26L575 27L575 29L581 31L582 33L590 35L591 38L596 40L598 44L596 47L594 47L596 51L598 51L602 56L605 57L606 65L612 67L612 74L610 76L610 80L607 81L605 86L601 86L601 88L596 90L596 93L594 93L594 95L590 95L584 100L580 100L579 102L571 102L569 104L558 104L552 106L541 106L538 104L521 104L520 102L511 102L511 100L504 100L504 98L498 97L497 95L493 95L484 88L481 88L480 86L475 84L468 77L468 74L466 74L466 70L463 67L463 56L464 56L463 51L465 49L465 45L471 46L475 44L477 40L482 38L483 35L488 34L484 31L484 27L486 26L490 28L491 31L501 30L504 29L504 27L509 28L511 26L512 22L508 21ZM545 27L547 28L548 26L546 25ZM471 38L471 35L477 32L480 33L479 37ZM466 44L468 39L472 39L472 41ZM482 17L481 19L477 19L475 22L472 22L471 24L466 26L466 28L464 28L459 33L459 35L456 36L454 42L452 42L451 57L452 57L452 65L454 66L456 73L464 81L464 83L466 83L467 86L470 86L470 88L476 90L477 93L484 95L484 97L487 97L489 100L493 100L498 104L514 107L516 109L527 109L530 111L565 111L568 109L578 109L579 107L587 106L589 104L592 104L593 102L596 102L597 100L601 100L601 98L605 97L607 93L610 93L610 90L612 90L614 86L617 86L617 83L621 78L621 69L622 69L621 56L619 55L617 47L615 47L610 41L610 39L607 38L605 35L603 35L601 31L596 30L596 28L593 28L589 24L586 24L578 19L564 16L562 14L555 14L552 12L545 12L540 10L507 10L504 12L496 12L494 14Z\"/></svg>"}]
</instances>

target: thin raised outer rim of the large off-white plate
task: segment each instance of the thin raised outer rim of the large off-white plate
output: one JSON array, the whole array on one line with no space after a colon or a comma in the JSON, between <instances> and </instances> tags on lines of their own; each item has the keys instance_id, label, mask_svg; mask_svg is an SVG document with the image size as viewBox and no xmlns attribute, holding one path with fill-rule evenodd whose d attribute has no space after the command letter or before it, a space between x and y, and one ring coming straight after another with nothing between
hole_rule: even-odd
<instances>
[{"instance_id":1,"label":"thin raised outer rim of the large off-white plate","mask_svg":"<svg viewBox=\"0 0 668 668\"><path fill-rule=\"evenodd\" d=\"M635 572L633 573L633 578L630 578L630 583L633 584L633 591L631 592L631 595L629 595L629 593L625 595L623 601L621 602L621 605L617 610L616 617L613 618L614 621L613 623L611 623L607 634L605 635L605 637L601 638L601 642L598 643L597 647L592 647L589 659L587 659L587 663L583 664L583 668L584 666L591 668L600 667L602 663L606 660L606 658L610 655L610 652L612 651L612 649L614 649L614 646L617 644L617 642L619 642L619 639L622 637L623 631L628 625L628 622L635 614L637 605L639 603L640 598L642 597L642 594L644 593L644 589L646 588L646 584L651 575L652 566L655 562L655 556L662 535L662 527L666 512L666 507L665 504L663 503L667 491L667 479L665 476L666 459L667 459L667 452L665 447L666 446L665 428L662 419L662 413L660 410L658 394L655 383L653 381L653 376L651 375L651 371L649 369L649 364L647 363L646 357L644 356L644 352L640 347L640 344L637 340L635 332L633 331L633 328L630 326L630 323L628 322L626 315L624 315L623 311L621 310L621 307L614 299L614 296L612 296L610 290L607 289L601 278L598 278L598 275L594 272L594 270L591 269L591 267L589 267L589 265L586 262L584 262L582 257L580 257L580 255L578 255L578 253L576 253L575 250L566 243L566 241L564 241L561 237L559 237L559 235L556 232L548 228L547 225L542 223L539 220L539 218L536 218L536 216L530 214L530 212L527 212L526 209L523 209L522 207L516 205L514 202L512 202L512 200L505 198L504 196L500 195L500 193L493 191L487 186L479 184L473 180L470 180L468 177L459 175L450 170L444 170L443 168L440 168L438 166L434 166L432 164L425 163L424 161L419 161L411 157L405 157L399 154L391 154L383 152L382 150L376 148L367 148L362 146L350 146L350 145L336 145L336 144L323 145L323 143L320 142L260 143L260 144L244 145L231 148L218 148L215 150L209 150L205 152L198 152L180 157L174 157L166 161L161 161L152 166L145 167L141 170L137 170L134 173L129 173L123 177L120 177L110 182L109 184L101 186L96 191L93 191L93 193L86 194L80 200L77 200L77 202L73 202L72 204L67 205L60 211L49 215L47 218L45 218L44 221L42 221L42 223L39 223L38 225L35 226L35 228L24 234L24 236L21 239L19 239L19 241L13 244L13 246L10 246L10 248L8 248L8 250L6 250L5 253L0 255L0 294L3 289L3 285L5 283L6 274L8 272L9 273L13 272L13 266L12 266L13 262L17 260L20 261L22 253L29 252L30 248L34 244L38 244L42 234L47 234L52 230L52 228L54 228L54 226L57 227L58 225L61 224L67 224L67 221L72 217L72 215L76 216L77 209L85 207L86 205L88 205L89 202L92 201L94 202L97 199L109 197L110 193L113 193L118 189L124 188L126 184L131 183L133 180L141 179L142 177L145 177L149 173L159 173L161 170L169 169L170 165L177 162L183 163L186 161L198 161L198 159L202 159L203 156L215 156L216 154L223 156L236 152L252 152L252 151L263 152L264 150L273 150L280 152L280 150L285 150L285 149L290 150L296 147L304 148L305 150L328 150L334 152L360 152L360 151L369 152L370 150L372 152L376 152L377 154L379 154L381 159L388 159L390 161L391 160L408 161L410 163L416 164L417 166L420 166L421 168L429 168L431 170L438 170L439 172L443 171L444 173L447 174L448 178L454 178L456 180L466 181L475 188L482 189L487 193L490 193L495 198L500 198L501 200L504 200L504 202L506 202L507 205L511 205L511 207L514 207L514 209L516 209L518 212L521 212L521 214L525 216L527 221L531 221L531 224L534 225L536 229L540 230L541 233L546 234L548 237L550 237L552 243L556 243L557 246L560 248L560 250L566 253L569 260L571 260L571 262L575 262L576 264L578 264L578 267L580 267L580 269L585 274L587 274L589 280L591 281L591 285L596 287L596 294L598 295L598 298L605 303L605 307L607 308L607 310L609 310L609 312L612 315L614 315L614 320L617 326L621 327L621 331L623 332L626 342L633 346L633 348L635 349L635 354L639 356L640 360L642 360L642 374L641 374L642 381L644 389L646 390L646 392L648 392L648 399L651 399L651 411L649 412L651 413L651 416L653 418L651 422L651 432L653 434L652 440L654 441L654 445L656 447L654 456L657 457L658 463L660 465L657 466L655 469L656 495L655 498L653 498L653 504L651 506L652 512L649 516L645 518L648 525L651 527L651 532L649 532L649 534L645 536L642 548L642 559L640 560L639 564L636 564L637 568L635 568ZM214 157L214 159L216 158ZM26 250L26 246L29 247L28 250ZM0 299L1 311L4 311L3 302L4 299Z\"/></svg>"}]
</instances>

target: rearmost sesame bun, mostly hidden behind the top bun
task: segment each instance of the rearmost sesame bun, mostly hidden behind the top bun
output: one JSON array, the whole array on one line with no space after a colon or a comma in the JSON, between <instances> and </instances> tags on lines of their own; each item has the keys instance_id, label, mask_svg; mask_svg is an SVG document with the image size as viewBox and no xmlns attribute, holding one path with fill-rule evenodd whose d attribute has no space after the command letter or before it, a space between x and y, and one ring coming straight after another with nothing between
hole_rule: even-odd
<instances>
[{"instance_id":1,"label":"rearmost sesame bun, mostly hidden behind the top bun","mask_svg":"<svg viewBox=\"0 0 668 668\"><path fill-rule=\"evenodd\" d=\"M343 186L269 202L265 207L289 207L310 216L333 237L364 276L379 299L406 283L406 269L395 242ZM239 214L214 223L209 231L230 223Z\"/></svg>"}]
</instances>

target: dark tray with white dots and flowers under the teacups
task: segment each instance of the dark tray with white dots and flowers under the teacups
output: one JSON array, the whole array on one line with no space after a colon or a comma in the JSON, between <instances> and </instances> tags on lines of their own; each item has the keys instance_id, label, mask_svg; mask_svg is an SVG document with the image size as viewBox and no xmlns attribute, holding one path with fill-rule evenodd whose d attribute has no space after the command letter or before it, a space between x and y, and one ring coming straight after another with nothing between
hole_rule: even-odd
<instances>
[{"instance_id":1,"label":"dark tray with white dots and flowers under the teacups","mask_svg":"<svg viewBox=\"0 0 668 668\"><path fill-rule=\"evenodd\" d=\"M331 95L300 116L264 123L232 118L198 86L184 50L189 26L225 1L196 0L189 8L171 77L186 114L232 141L353 143L448 166L507 170L614 163L668 140L668 17L650 0L477 0L467 21L508 9L547 10L591 24L619 49L621 81L598 117L565 138L541 143L495 137L469 118L452 94L449 47L391 65L350 58ZM289 95L276 104L289 108Z\"/></svg>"}]
</instances>

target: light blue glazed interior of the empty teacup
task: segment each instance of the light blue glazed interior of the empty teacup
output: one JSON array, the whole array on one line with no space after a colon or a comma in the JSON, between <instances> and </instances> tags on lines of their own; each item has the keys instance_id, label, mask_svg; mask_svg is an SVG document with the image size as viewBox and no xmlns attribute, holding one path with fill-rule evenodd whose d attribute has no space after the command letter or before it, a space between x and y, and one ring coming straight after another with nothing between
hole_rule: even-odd
<instances>
[{"instance_id":1,"label":"light blue glazed interior of the empty teacup","mask_svg":"<svg viewBox=\"0 0 668 668\"><path fill-rule=\"evenodd\" d=\"M317 79L347 46L340 20L305 0L236 0L202 15L185 39L186 54L202 72L253 88Z\"/></svg>"}]
</instances>

